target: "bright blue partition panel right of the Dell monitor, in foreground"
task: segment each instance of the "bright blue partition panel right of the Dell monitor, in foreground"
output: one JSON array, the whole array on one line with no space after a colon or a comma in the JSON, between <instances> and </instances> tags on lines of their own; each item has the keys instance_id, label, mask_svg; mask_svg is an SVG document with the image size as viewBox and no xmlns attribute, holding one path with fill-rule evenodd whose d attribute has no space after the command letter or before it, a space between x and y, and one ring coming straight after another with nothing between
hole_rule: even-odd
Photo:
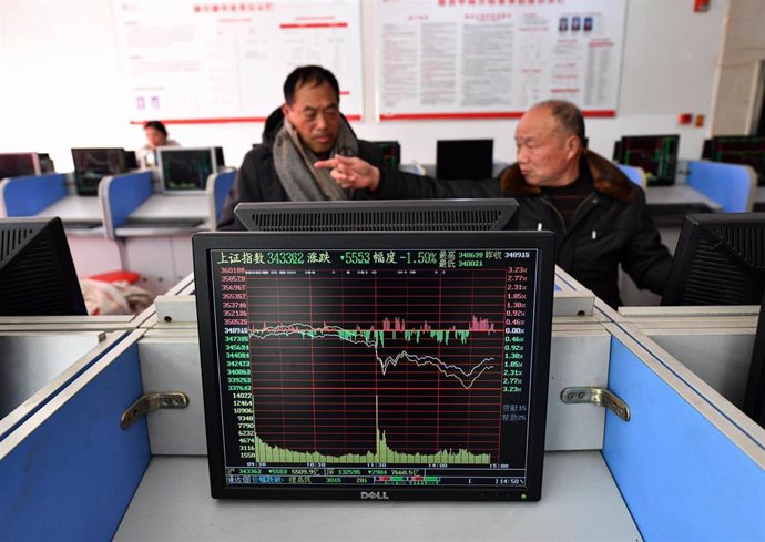
<instances>
[{"instance_id":1,"label":"bright blue partition panel right of the Dell monitor, in foreground","mask_svg":"<svg viewBox=\"0 0 765 542\"><path fill-rule=\"evenodd\" d=\"M609 389L632 419L608 412L603 456L646 541L765 540L765 471L614 337Z\"/></svg>"}]
</instances>

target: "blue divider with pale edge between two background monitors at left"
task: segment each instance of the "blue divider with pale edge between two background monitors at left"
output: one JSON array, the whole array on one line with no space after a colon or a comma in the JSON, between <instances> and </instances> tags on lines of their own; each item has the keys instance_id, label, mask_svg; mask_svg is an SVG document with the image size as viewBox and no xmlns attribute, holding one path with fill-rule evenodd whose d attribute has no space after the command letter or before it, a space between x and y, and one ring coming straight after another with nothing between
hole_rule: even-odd
<instances>
[{"instance_id":1,"label":"blue divider with pale edge between two background monitors at left","mask_svg":"<svg viewBox=\"0 0 765 542\"><path fill-rule=\"evenodd\" d=\"M104 205L106 237L114 238L114 229L128 222L130 214L153 193L151 171L104 178L99 184L99 197Z\"/></svg>"}]
</instances>

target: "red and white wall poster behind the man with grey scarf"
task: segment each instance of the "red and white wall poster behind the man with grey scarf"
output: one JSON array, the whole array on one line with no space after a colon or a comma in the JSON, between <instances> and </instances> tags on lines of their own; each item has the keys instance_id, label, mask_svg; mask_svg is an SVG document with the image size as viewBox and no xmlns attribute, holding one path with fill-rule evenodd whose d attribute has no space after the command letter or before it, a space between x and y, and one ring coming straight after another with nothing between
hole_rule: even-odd
<instances>
[{"instance_id":1,"label":"red and white wall poster behind the man with grey scarf","mask_svg":"<svg viewBox=\"0 0 765 542\"><path fill-rule=\"evenodd\" d=\"M263 121L284 102L287 74L303 64L332 70L343 112L361 117L356 0L115 0L113 6L134 122Z\"/></svg>"}]
</instances>

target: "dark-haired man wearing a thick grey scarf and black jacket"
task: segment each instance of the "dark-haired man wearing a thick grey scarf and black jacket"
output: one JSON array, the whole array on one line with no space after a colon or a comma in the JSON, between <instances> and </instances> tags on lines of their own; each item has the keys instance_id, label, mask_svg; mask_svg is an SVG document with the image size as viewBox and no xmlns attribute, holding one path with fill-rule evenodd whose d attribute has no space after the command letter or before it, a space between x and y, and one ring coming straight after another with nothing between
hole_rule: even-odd
<instances>
[{"instance_id":1,"label":"dark-haired man wearing a thick grey scarf and black jacket","mask_svg":"<svg viewBox=\"0 0 765 542\"><path fill-rule=\"evenodd\" d=\"M341 188L328 170L314 163L336 154L358 156L385 171L374 143L356 139L340 113L340 90L329 70L295 69L284 82L285 103L266 121L263 143L249 151L236 175L218 228L241 229L234 217L239 202L367 200L385 197L367 190ZM406 175L406 174L404 174Z\"/></svg>"}]
</instances>

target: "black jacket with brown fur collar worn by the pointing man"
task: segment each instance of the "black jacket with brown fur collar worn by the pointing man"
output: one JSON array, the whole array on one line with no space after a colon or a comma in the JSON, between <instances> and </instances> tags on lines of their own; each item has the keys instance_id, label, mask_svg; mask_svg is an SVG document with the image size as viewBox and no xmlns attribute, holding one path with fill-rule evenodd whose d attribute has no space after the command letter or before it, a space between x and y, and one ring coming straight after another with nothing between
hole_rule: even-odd
<instances>
[{"instance_id":1,"label":"black jacket with brown fur collar worn by the pointing man","mask_svg":"<svg viewBox=\"0 0 765 542\"><path fill-rule=\"evenodd\" d=\"M661 244L645 206L645 193L611 162L585 151L583 166L593 178L593 192L580 205L567 227L551 200L527 184L518 164L499 177L486 181L438 181L394 186L385 178L386 197L514 197L520 205L521 229L548 229L557 234L555 263L612 307L621 304L619 265L640 288L662 294L672 256Z\"/></svg>"}]
</instances>

